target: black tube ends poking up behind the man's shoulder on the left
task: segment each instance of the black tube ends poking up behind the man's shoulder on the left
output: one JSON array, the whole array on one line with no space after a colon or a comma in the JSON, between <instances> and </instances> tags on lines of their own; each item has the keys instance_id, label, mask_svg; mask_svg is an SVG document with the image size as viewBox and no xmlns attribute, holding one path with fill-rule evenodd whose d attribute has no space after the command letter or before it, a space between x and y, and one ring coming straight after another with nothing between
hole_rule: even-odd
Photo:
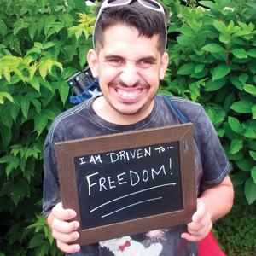
<instances>
[{"instance_id":1,"label":"black tube ends poking up behind the man's shoulder on the left","mask_svg":"<svg viewBox=\"0 0 256 256\"><path fill-rule=\"evenodd\" d=\"M84 71L73 74L67 79L67 84L73 89L75 95L81 94L94 81L90 67L84 68Z\"/></svg>"}]
</instances>

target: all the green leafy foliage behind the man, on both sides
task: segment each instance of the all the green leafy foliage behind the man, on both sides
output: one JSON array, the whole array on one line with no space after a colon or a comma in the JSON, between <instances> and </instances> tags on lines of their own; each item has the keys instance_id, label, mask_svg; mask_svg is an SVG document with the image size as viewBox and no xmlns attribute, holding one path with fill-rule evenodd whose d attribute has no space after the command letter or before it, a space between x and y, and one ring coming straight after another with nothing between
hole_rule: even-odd
<instances>
[{"instance_id":1,"label":"all the green leafy foliage behind the man, on both sides","mask_svg":"<svg viewBox=\"0 0 256 256\"><path fill-rule=\"evenodd\" d=\"M84 0L0 3L0 256L61 255L41 215L44 139L72 107L66 80L84 69L95 8ZM172 24L160 92L200 102L212 119L236 189L215 235L229 255L254 255L256 3L163 3Z\"/></svg>"}]
</instances>

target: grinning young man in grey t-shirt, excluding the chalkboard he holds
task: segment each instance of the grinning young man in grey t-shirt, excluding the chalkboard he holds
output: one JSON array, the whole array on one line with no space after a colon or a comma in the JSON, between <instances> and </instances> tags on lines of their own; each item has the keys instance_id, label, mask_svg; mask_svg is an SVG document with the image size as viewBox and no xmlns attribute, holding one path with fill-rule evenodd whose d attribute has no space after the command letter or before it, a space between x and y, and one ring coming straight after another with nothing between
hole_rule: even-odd
<instances>
[{"instance_id":1,"label":"grinning young man in grey t-shirt, excluding the chalkboard he holds","mask_svg":"<svg viewBox=\"0 0 256 256\"><path fill-rule=\"evenodd\" d=\"M194 125L197 211L192 222L166 230L125 236L80 247L76 212L63 209L55 142L136 131L183 123L166 97L156 95L168 64L166 17L155 0L106 0L96 20L95 49L88 53L102 96L62 113L53 123L44 146L44 216L58 247L71 255L198 255L197 241L207 236L212 221L230 211L233 188L229 163L203 108L172 97ZM120 250L124 241L129 245Z\"/></svg>"}]
</instances>

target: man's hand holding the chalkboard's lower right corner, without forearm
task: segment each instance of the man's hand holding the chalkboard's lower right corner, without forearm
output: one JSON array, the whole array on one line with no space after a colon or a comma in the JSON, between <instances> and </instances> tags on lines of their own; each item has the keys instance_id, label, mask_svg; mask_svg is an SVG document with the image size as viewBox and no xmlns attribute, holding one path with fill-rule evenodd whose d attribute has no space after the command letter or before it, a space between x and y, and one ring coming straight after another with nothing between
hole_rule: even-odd
<instances>
[{"instance_id":1,"label":"man's hand holding the chalkboard's lower right corner, without forearm","mask_svg":"<svg viewBox=\"0 0 256 256\"><path fill-rule=\"evenodd\" d=\"M212 229L212 217L206 205L197 199L197 210L192 216L192 222L188 224L188 232L182 237L188 241L201 241Z\"/></svg>"}]
</instances>

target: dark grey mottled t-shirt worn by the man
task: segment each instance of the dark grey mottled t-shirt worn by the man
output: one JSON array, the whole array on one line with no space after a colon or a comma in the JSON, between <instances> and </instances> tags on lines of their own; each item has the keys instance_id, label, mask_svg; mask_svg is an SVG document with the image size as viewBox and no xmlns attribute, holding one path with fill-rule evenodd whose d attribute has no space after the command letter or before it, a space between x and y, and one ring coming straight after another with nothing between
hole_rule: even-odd
<instances>
[{"instance_id":1,"label":"dark grey mottled t-shirt worn by the man","mask_svg":"<svg viewBox=\"0 0 256 256\"><path fill-rule=\"evenodd\" d=\"M200 104L180 97L171 97L172 102L193 123L195 138L195 172L197 192L201 185L212 187L223 182L230 166L216 131ZM138 131L166 125L178 125L183 120L177 116L166 97L154 97L154 109L145 119L133 125L115 125L100 118L92 108L93 98L59 115L44 144L44 217L56 203L61 201L56 163L55 142L85 137L96 137L123 131ZM81 247L73 256L192 256L198 255L196 242L181 238L186 225L170 229L154 230L145 234L125 236Z\"/></svg>"}]
</instances>

